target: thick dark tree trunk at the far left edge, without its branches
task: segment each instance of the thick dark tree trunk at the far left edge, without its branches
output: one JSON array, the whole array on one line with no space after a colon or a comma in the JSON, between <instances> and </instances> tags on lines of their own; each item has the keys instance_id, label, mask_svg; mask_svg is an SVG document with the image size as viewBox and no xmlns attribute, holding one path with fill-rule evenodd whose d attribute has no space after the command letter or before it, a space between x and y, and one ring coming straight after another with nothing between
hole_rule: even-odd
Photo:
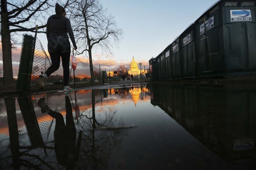
<instances>
[{"instance_id":1,"label":"thick dark tree trunk at the far left edge, without its branches","mask_svg":"<svg viewBox=\"0 0 256 170\"><path fill-rule=\"evenodd\" d=\"M10 37L10 28L7 14L7 2L1 0L1 36L3 52L3 85L14 83L12 72L12 43Z\"/></svg>"}]
</instances>

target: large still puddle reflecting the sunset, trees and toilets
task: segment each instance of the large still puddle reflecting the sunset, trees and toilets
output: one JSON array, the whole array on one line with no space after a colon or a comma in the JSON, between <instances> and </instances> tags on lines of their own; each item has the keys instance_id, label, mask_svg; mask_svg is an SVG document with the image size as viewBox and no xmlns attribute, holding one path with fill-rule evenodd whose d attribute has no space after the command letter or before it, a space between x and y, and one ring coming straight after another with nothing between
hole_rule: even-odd
<instances>
[{"instance_id":1,"label":"large still puddle reflecting the sunset, trees and toilets","mask_svg":"<svg viewBox=\"0 0 256 170\"><path fill-rule=\"evenodd\" d=\"M156 84L2 98L0 169L254 169L255 103Z\"/></svg>"}]
</instances>

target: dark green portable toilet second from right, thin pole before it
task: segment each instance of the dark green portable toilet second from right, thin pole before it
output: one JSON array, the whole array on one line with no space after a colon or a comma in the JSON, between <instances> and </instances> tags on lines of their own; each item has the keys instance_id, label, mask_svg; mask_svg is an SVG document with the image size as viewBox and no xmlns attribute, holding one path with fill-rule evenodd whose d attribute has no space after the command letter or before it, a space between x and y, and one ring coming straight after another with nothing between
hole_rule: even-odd
<instances>
[{"instance_id":1,"label":"dark green portable toilet second from right, thin pole before it","mask_svg":"<svg viewBox=\"0 0 256 170\"><path fill-rule=\"evenodd\" d=\"M206 21L206 29L208 39L206 39L204 20ZM210 7L198 20L196 26L196 64L197 76L210 76L212 69L213 76L225 75L225 58L223 45L223 27L222 27L222 11L220 1ZM208 41L208 42L207 42ZM207 44L208 43L208 44ZM208 57L208 47L210 59ZM212 68L210 68L210 65Z\"/></svg>"}]
</instances>

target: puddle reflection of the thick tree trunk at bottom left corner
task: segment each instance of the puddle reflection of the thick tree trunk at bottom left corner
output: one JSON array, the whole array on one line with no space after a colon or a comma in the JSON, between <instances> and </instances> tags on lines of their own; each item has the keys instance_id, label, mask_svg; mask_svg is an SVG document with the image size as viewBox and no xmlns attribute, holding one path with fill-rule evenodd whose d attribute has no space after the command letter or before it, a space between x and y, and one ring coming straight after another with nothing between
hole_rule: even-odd
<instances>
[{"instance_id":1,"label":"puddle reflection of the thick tree trunk at bottom left corner","mask_svg":"<svg viewBox=\"0 0 256 170\"><path fill-rule=\"evenodd\" d=\"M24 100L24 98L22 98L22 100ZM14 170L20 168L54 169L50 165L51 163L47 161L47 155L44 151L34 152L34 147L20 143L26 134L24 134L22 131L18 131L15 98L5 98L4 102L6 105L10 142L7 146L5 146L5 155L0 157L0 162L4 162L0 164L0 169L9 169L10 166ZM48 147L48 149L51 148Z\"/></svg>"}]
</instances>

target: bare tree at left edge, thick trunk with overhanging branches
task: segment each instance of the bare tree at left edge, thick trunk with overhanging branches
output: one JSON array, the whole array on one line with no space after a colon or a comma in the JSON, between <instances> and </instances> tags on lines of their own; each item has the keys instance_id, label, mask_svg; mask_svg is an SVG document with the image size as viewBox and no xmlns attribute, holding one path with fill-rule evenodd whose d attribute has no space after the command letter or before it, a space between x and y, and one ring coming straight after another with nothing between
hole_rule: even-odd
<instances>
[{"instance_id":1,"label":"bare tree at left edge, thick trunk with overhanging branches","mask_svg":"<svg viewBox=\"0 0 256 170\"><path fill-rule=\"evenodd\" d=\"M12 72L12 43L16 43L14 35L18 32L32 31L36 25L40 25L38 33L45 32L45 14L50 5L48 0L22 0L8 1L1 0L1 38L3 54L3 84L13 84Z\"/></svg>"}]
</instances>

